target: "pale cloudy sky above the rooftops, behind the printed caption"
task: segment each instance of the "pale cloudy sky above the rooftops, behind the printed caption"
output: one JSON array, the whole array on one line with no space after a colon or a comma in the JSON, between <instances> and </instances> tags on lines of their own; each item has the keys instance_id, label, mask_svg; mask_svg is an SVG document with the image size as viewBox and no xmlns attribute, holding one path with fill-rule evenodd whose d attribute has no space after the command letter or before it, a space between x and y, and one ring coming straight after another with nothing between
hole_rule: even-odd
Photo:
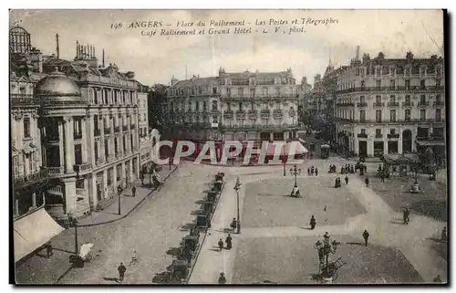
<instances>
[{"instance_id":1,"label":"pale cloudy sky above the rooftops, behind the printed caption","mask_svg":"<svg viewBox=\"0 0 456 293\"><path fill-rule=\"evenodd\" d=\"M301 25L301 18L330 19L331 24ZM269 26L271 19L275 24ZM294 19L298 23L292 25ZM211 20L244 20L252 33L234 35L231 28L230 35L211 36L209 28L220 28L209 26ZM204 35L149 37L142 34L154 28L128 27L137 21L162 22L157 34L177 28L178 21L193 22L186 29L195 28L198 21L208 24L196 27L205 28ZM267 25L255 26L260 21ZM405 58L408 51L416 58L443 54L440 10L12 10L10 26L16 22L44 54L56 53L58 34L60 58L73 59L78 40L94 45L98 60L104 48L105 63L116 63L122 72L134 71L145 85L169 84L172 76L217 76L220 67L226 72L291 68L296 83L302 77L313 82L317 73L325 72L329 59L336 67L347 65L357 46L360 57L368 53L374 58L380 51L386 58ZM121 28L111 28L119 23ZM289 34L292 26L306 32Z\"/></svg>"}]
</instances>

